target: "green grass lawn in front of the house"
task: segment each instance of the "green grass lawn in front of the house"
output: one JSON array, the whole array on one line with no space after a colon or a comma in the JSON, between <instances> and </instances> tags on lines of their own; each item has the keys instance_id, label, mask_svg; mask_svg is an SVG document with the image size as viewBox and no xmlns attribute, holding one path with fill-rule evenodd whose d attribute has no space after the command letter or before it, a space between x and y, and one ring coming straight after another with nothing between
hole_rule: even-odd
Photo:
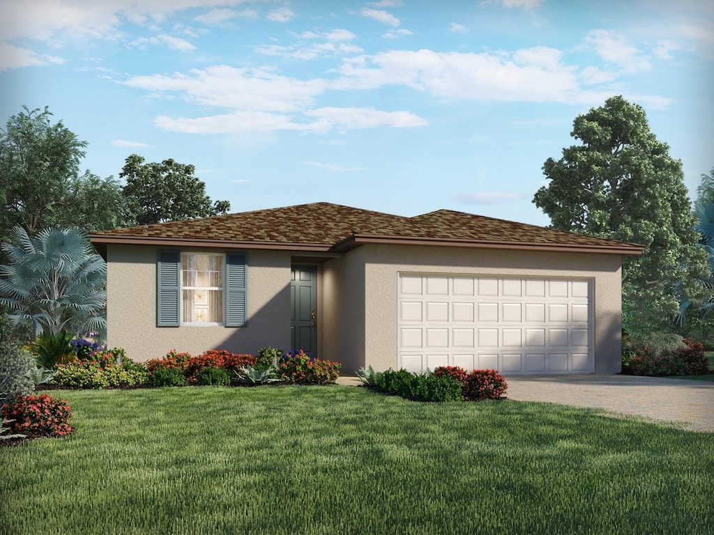
<instances>
[{"instance_id":1,"label":"green grass lawn in front of the house","mask_svg":"<svg viewBox=\"0 0 714 535\"><path fill-rule=\"evenodd\" d=\"M712 533L714 441L597 409L355 387L56 391L2 534Z\"/></svg>"}]
</instances>

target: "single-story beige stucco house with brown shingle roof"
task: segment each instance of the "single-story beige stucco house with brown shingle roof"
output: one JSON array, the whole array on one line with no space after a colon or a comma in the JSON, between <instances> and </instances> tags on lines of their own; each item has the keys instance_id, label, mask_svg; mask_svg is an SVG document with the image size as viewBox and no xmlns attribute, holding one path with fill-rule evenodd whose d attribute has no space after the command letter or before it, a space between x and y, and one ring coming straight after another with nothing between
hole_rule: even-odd
<instances>
[{"instance_id":1,"label":"single-story beige stucco house with brown shingle roof","mask_svg":"<svg viewBox=\"0 0 714 535\"><path fill-rule=\"evenodd\" d=\"M504 374L620 371L631 243L452 210L403 217L331 203L92 233L108 344L306 350L341 362Z\"/></svg>"}]
</instances>

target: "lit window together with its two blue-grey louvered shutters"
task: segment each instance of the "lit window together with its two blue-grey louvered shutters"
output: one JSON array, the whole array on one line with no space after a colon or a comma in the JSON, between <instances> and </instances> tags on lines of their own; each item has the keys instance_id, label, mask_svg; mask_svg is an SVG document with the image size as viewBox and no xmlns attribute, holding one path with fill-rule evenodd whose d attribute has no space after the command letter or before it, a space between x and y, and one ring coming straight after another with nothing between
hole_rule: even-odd
<instances>
[{"instance_id":1,"label":"lit window together with its two blue-grey louvered shutters","mask_svg":"<svg viewBox=\"0 0 714 535\"><path fill-rule=\"evenodd\" d=\"M156 326L246 325L245 253L159 251Z\"/></svg>"}]
</instances>

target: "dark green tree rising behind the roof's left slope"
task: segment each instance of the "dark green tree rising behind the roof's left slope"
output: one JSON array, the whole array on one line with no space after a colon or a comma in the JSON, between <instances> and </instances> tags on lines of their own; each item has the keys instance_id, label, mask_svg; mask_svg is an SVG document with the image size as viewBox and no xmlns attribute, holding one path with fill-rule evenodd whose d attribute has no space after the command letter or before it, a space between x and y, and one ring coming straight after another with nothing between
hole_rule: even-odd
<instances>
[{"instance_id":1,"label":"dark green tree rising behind the roof's left slope","mask_svg":"<svg viewBox=\"0 0 714 535\"><path fill-rule=\"evenodd\" d=\"M126 179L127 218L135 225L149 225L228 213L230 203L217 200L211 204L206 185L195 172L193 165L172 159L144 163L136 154L126 158L119 176Z\"/></svg>"}]
</instances>

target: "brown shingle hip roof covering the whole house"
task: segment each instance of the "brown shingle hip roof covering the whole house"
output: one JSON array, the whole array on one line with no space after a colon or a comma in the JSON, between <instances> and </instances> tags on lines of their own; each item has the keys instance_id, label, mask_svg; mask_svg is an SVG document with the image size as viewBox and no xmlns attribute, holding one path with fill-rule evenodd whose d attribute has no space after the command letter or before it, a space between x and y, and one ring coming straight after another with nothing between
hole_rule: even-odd
<instances>
[{"instance_id":1,"label":"brown shingle hip roof covering the whole house","mask_svg":"<svg viewBox=\"0 0 714 535\"><path fill-rule=\"evenodd\" d=\"M546 248L639 254L630 243L482 215L437 210L406 218L332 203L255 210L92 233L95 245L144 243L298 250L349 250L361 243Z\"/></svg>"}]
</instances>

